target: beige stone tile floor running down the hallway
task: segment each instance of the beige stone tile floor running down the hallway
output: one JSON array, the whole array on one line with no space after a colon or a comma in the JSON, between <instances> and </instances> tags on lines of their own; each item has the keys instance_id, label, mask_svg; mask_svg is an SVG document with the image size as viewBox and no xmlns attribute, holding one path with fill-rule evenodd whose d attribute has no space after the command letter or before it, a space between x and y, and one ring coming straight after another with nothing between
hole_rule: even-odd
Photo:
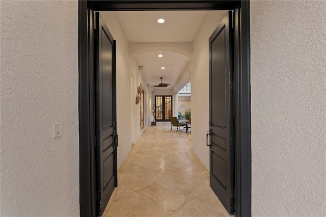
<instances>
[{"instance_id":1,"label":"beige stone tile floor running down the hallway","mask_svg":"<svg viewBox=\"0 0 326 217\"><path fill-rule=\"evenodd\" d=\"M191 150L191 135L170 128L147 127L119 168L102 216L229 216Z\"/></svg>"}]
</instances>

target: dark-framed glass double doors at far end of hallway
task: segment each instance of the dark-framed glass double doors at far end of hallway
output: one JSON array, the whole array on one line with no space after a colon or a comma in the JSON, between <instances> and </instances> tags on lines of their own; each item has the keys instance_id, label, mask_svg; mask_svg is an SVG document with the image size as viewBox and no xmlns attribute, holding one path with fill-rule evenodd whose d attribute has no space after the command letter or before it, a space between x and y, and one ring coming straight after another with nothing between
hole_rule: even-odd
<instances>
[{"instance_id":1,"label":"dark-framed glass double doors at far end of hallway","mask_svg":"<svg viewBox=\"0 0 326 217\"><path fill-rule=\"evenodd\" d=\"M156 121L170 121L172 117L172 96L155 96Z\"/></svg>"}]
</instances>

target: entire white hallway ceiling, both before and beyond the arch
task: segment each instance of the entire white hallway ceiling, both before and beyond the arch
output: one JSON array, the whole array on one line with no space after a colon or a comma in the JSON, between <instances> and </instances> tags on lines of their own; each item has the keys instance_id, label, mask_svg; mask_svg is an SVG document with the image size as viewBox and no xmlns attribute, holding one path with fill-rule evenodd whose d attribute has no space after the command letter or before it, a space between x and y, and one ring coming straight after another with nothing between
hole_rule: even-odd
<instances>
[{"instance_id":1,"label":"entire white hallway ceiling, both before and beyond the arch","mask_svg":"<svg viewBox=\"0 0 326 217\"><path fill-rule=\"evenodd\" d=\"M206 11L120 11L113 13L117 14L122 29L131 43L192 42L206 15ZM165 22L158 23L159 18L165 19ZM163 55L162 58L157 57L159 53ZM190 58L180 53L152 50L135 58L138 64L143 66L143 75L149 85L159 84L159 77L163 77L162 83L171 84L165 89L175 90L177 87L175 91L179 91L190 81L189 74L187 74L188 78L181 77ZM177 81L178 84L176 84Z\"/></svg>"}]
</instances>

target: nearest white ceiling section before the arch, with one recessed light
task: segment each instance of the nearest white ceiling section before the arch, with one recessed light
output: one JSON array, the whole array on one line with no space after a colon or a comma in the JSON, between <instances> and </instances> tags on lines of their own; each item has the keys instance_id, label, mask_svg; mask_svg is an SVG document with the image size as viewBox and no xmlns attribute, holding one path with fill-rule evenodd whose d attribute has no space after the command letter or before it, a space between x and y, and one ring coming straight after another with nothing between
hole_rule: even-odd
<instances>
[{"instance_id":1,"label":"nearest white ceiling section before the arch, with one recessed light","mask_svg":"<svg viewBox=\"0 0 326 217\"><path fill-rule=\"evenodd\" d=\"M192 42L206 11L116 12L129 42ZM165 19L158 23L159 18Z\"/></svg>"}]
</instances>

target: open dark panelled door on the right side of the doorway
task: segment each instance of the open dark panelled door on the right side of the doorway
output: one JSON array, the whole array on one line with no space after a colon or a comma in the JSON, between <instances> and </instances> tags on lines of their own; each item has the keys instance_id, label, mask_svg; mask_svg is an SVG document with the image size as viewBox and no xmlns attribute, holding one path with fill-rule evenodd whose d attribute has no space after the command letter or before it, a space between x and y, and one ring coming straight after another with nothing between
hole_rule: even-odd
<instances>
[{"instance_id":1,"label":"open dark panelled door on the right side of the doorway","mask_svg":"<svg viewBox=\"0 0 326 217\"><path fill-rule=\"evenodd\" d=\"M234 212L232 11L209 38L210 186Z\"/></svg>"}]
</instances>

